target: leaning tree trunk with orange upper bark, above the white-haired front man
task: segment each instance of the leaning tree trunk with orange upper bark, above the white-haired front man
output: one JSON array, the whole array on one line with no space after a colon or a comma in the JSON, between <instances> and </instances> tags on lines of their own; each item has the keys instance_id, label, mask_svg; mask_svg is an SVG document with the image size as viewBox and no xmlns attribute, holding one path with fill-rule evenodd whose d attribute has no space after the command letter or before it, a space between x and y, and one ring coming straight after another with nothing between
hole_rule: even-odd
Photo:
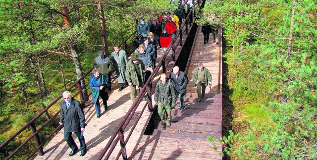
<instances>
[{"instance_id":1,"label":"leaning tree trunk with orange upper bark, above the white-haired front man","mask_svg":"<svg viewBox=\"0 0 317 160\"><path fill-rule=\"evenodd\" d=\"M63 20L64 20L64 25L67 29L71 29L70 26L70 21L69 21L69 15L67 12L67 8L66 7L61 7L61 11L62 11L62 16L63 16ZM74 66L75 66L75 72L76 72L76 77L77 79L81 78L84 74L83 74L83 69L81 66L81 62L80 62L80 58L79 55L77 53L77 44L74 42L74 37L72 36L68 36L69 38L69 50L71 52L71 56L74 62ZM87 93L87 89L85 86L85 79L83 78L81 81L81 87L83 88L82 93L84 96L84 99L88 99L88 93Z\"/></svg>"}]
</instances>

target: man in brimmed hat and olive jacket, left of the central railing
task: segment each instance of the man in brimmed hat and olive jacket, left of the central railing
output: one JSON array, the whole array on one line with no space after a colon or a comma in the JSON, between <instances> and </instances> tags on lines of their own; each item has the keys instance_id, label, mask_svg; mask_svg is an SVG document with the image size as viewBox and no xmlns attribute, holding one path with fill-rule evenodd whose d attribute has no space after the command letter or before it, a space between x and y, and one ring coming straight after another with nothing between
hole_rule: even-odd
<instances>
[{"instance_id":1,"label":"man in brimmed hat and olive jacket, left of the central railing","mask_svg":"<svg viewBox=\"0 0 317 160\"><path fill-rule=\"evenodd\" d=\"M144 70L152 70L152 68L145 66L142 60L139 60L139 56L135 53L132 53L125 70L125 78L131 88L130 97L132 102L134 102L137 97L136 86L139 87L140 91L144 86ZM146 101L145 97L143 97L142 100Z\"/></svg>"}]
</instances>

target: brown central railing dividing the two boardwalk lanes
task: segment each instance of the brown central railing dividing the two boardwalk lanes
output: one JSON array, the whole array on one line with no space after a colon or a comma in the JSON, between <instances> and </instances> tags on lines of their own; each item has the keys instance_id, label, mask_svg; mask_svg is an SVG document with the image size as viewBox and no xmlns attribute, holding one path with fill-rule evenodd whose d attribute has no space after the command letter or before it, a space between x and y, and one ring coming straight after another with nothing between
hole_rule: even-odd
<instances>
[{"instance_id":1,"label":"brown central railing dividing the two boardwalk lanes","mask_svg":"<svg viewBox=\"0 0 317 160\"><path fill-rule=\"evenodd\" d=\"M200 2L200 1L199 1ZM204 1L202 1L204 2ZM196 3L196 4L200 4L199 5L199 9L201 7L201 3ZM196 5L195 4L195 5ZM192 18L192 12L193 12L193 8L195 7L195 5L192 7L192 9L190 10L190 13L188 14L188 16L186 17L185 21L189 20L189 18ZM192 22L192 21L189 21ZM106 144L105 148L103 149L103 151L101 152L101 154L99 155L99 157L97 158L97 160L102 160L103 158L105 160L108 160L109 157L111 156L111 154L114 151L114 148L116 147L116 145L118 144L118 142L120 141L120 151L117 153L116 156L116 160L119 159L120 155L122 155L122 159L123 160L128 160L127 157L127 152L126 152L126 144L129 141L129 138L131 137L137 123L139 122L141 116L143 115L143 112L145 110L145 108L148 106L150 111L153 111L155 107L153 107L152 105L152 94L153 92L151 92L151 89L149 87L149 84L152 84L154 77L158 75L160 67L162 67L162 72L166 72L166 67L168 66L169 62L171 60L175 60L175 49L178 45L182 46L182 29L185 27L186 33L187 33L187 25L188 23L183 23L181 25L181 28L179 29L179 31L176 33L176 35L174 36L174 39L172 40L172 43L168 46L168 48L166 49L166 51L164 52L161 60L159 61L159 63L157 64L156 68L153 70L151 76L149 77L149 79L147 80L147 82L144 84L142 90L140 91L138 97L136 98L136 101L132 104L132 106L130 107L130 109L127 111L127 113L123 116L121 122L119 123L119 125L117 126L116 130L113 132L113 134L111 135L108 143ZM179 36L179 41L177 43L174 43L177 39L177 37ZM166 56L169 53L169 51L172 50L172 58L167 59ZM167 62L166 62L167 60ZM147 102L145 103L145 105L143 106L142 110L140 113L138 113L138 117L136 119L136 121L134 122L133 126L129 129L129 134L127 135L127 137L124 137L124 131L126 126L130 123L130 120L132 119L136 109L139 107L142 98L145 96L147 96ZM107 154L106 154L107 153ZM106 157L104 157L106 155Z\"/></svg>"}]
</instances>

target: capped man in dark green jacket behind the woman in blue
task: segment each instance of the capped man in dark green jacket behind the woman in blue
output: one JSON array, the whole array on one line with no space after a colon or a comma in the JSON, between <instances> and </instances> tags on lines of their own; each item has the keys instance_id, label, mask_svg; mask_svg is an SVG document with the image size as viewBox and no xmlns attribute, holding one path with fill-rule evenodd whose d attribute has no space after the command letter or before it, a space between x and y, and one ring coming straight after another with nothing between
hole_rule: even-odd
<instances>
[{"instance_id":1,"label":"capped man in dark green jacket behind the woman in blue","mask_svg":"<svg viewBox=\"0 0 317 160\"><path fill-rule=\"evenodd\" d=\"M104 75L108 82L108 93L111 91L111 70L113 69L112 60L109 56L104 54L104 51L99 51L98 56L95 58L94 67L99 69L99 73Z\"/></svg>"}]
</instances>

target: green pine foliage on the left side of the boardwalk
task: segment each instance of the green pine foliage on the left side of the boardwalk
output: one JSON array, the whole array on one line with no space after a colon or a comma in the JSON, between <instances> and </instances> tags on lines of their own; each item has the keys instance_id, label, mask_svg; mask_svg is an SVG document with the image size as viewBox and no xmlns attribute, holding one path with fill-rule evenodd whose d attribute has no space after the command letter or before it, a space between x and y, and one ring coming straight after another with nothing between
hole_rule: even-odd
<instances>
[{"instance_id":1,"label":"green pine foliage on the left side of the boardwalk","mask_svg":"<svg viewBox=\"0 0 317 160\"><path fill-rule=\"evenodd\" d=\"M174 4L166 0L104 0L106 34L109 52L114 45L136 30L140 17L158 16L163 11L174 10ZM1 0L0 3L0 117L17 121L1 121L0 141L11 136L23 126L31 115L39 113L64 90L77 80L71 47L76 47L80 64L86 73L93 66L97 51L103 50L101 24L97 1L77 0ZM70 28L65 27L61 7L68 11ZM135 37L132 36L128 43ZM62 67L62 69L61 69ZM41 79L41 77L43 77ZM41 82L45 81L45 85ZM86 82L89 77L85 79ZM45 88L45 89L44 89ZM46 90L46 91L45 91ZM72 91L76 91L76 88ZM50 115L59 110L57 105L48 111ZM21 116L20 116L21 115ZM27 116L22 116L27 115ZM30 116L29 116L30 115ZM36 125L45 122L44 116ZM47 126L40 137L45 138L57 126ZM17 142L26 139L29 131ZM12 142L0 152L4 159L19 144ZM32 151L33 142L14 159L25 159Z\"/></svg>"}]
</instances>

